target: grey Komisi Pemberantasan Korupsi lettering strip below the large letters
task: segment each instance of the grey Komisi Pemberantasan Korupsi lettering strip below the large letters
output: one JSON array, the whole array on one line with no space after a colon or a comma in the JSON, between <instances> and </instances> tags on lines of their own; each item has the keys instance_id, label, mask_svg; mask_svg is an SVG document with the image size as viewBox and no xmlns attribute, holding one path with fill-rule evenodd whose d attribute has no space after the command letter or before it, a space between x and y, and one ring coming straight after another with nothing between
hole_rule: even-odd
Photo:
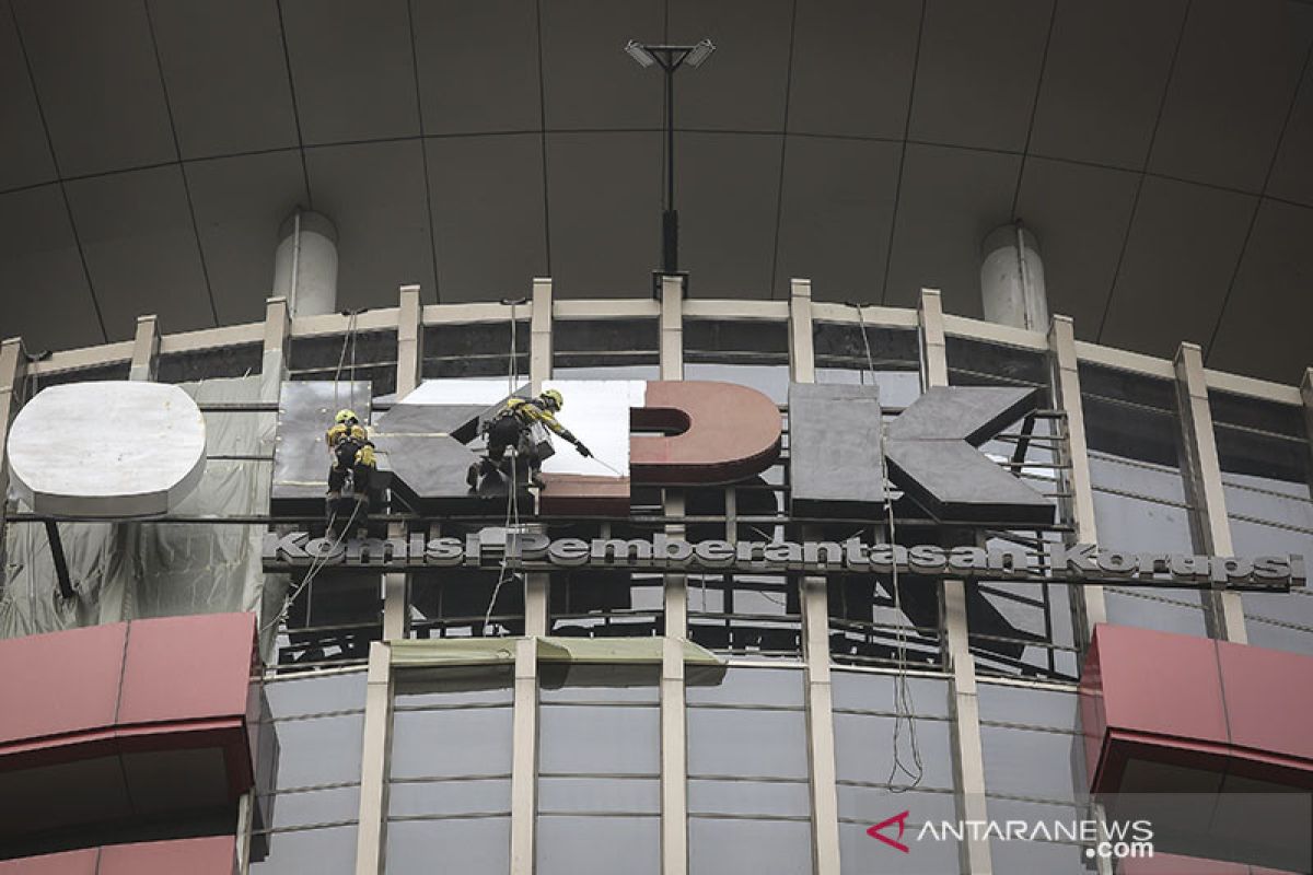
<instances>
[{"instance_id":1,"label":"grey Komisi Pemberantasan Korupsi lettering strip below the large letters","mask_svg":"<svg viewBox=\"0 0 1313 875\"><path fill-rule=\"evenodd\" d=\"M491 535L491 537L488 537ZM498 567L503 560L524 571L557 568L630 571L738 571L916 575L922 577L990 579L1124 586L1176 586L1288 592L1304 586L1304 558L1205 556L1128 552L1092 544L1050 543L1041 554L1019 547L940 547L936 544L868 544L835 540L699 540L656 534L651 539L548 538L486 529L461 538L311 538L309 533L268 534L267 571L312 565L383 571L444 567Z\"/></svg>"}]
</instances>

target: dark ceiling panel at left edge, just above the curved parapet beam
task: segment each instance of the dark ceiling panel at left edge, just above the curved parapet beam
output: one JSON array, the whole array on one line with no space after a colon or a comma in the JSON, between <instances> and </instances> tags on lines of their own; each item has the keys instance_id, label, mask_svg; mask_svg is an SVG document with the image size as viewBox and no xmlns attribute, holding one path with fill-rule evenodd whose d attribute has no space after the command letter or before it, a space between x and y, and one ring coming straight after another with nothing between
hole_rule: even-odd
<instances>
[{"instance_id":1,"label":"dark ceiling panel at left edge, just above the curved parapet beam","mask_svg":"<svg viewBox=\"0 0 1313 875\"><path fill-rule=\"evenodd\" d=\"M0 194L0 296L28 352L105 342L58 185Z\"/></svg>"}]
</instances>

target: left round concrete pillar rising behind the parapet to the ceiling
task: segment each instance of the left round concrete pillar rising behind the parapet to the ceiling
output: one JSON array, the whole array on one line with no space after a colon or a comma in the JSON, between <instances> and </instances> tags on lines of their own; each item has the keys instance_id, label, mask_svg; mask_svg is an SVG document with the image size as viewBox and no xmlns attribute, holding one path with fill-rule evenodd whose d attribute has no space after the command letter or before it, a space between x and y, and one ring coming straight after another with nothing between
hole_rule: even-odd
<instances>
[{"instance_id":1,"label":"left round concrete pillar rising behind the parapet to the ceiling","mask_svg":"<svg viewBox=\"0 0 1313 875\"><path fill-rule=\"evenodd\" d=\"M293 316L337 308L337 228L328 216L297 210L278 228L273 295L288 299Z\"/></svg>"}]
</instances>

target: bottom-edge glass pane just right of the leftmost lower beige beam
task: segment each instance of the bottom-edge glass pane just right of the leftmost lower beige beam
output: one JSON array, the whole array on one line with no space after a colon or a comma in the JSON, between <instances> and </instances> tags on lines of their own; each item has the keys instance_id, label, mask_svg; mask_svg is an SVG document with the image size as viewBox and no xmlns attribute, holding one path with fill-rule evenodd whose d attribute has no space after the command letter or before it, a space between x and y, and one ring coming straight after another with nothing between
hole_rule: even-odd
<instances>
[{"instance_id":1,"label":"bottom-edge glass pane just right of the leftmost lower beige beam","mask_svg":"<svg viewBox=\"0 0 1313 875\"><path fill-rule=\"evenodd\" d=\"M355 871L355 857L352 849L351 871ZM314 868L305 871L319 875ZM394 820L387 824L387 875L437 871L506 875L511 871L511 819Z\"/></svg>"}]
</instances>

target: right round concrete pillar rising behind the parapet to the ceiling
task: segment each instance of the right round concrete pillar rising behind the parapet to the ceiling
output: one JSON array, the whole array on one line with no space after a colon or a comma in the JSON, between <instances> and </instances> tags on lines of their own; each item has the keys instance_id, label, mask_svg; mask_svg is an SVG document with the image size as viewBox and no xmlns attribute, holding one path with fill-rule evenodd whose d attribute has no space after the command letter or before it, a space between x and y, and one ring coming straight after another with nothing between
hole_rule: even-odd
<instances>
[{"instance_id":1,"label":"right round concrete pillar rising behind the parapet to the ceiling","mask_svg":"<svg viewBox=\"0 0 1313 875\"><path fill-rule=\"evenodd\" d=\"M1048 331L1049 299L1035 235L1020 223L1004 224L985 237L981 254L985 319L1014 328Z\"/></svg>"}]
</instances>

